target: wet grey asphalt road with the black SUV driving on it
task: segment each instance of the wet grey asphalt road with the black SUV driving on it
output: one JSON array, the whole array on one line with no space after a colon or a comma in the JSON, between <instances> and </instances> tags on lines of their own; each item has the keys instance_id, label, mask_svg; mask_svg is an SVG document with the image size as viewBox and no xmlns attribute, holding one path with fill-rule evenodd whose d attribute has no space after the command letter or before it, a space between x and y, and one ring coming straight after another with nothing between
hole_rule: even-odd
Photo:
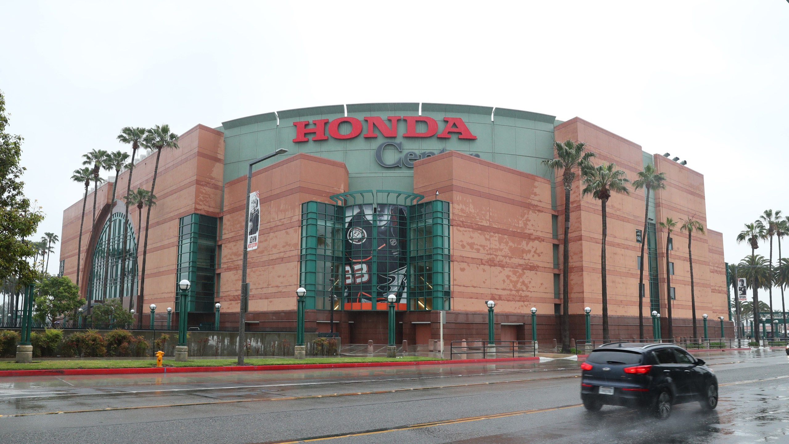
<instances>
[{"instance_id":1,"label":"wet grey asphalt road with the black SUV driving on it","mask_svg":"<svg viewBox=\"0 0 789 444\"><path fill-rule=\"evenodd\" d=\"M675 406L666 421L585 412L579 363L568 359L0 378L0 442L789 442L782 350L697 356L718 376L719 407Z\"/></svg>"}]
</instances>

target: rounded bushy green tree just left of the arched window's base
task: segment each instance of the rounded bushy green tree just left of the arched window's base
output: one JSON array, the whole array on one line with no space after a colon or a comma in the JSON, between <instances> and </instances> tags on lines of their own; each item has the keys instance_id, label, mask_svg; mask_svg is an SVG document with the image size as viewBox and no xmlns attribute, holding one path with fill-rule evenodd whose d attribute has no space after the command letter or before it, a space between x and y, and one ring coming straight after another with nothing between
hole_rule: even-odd
<instances>
[{"instance_id":1,"label":"rounded bushy green tree just left of the arched window's base","mask_svg":"<svg viewBox=\"0 0 789 444\"><path fill-rule=\"evenodd\" d=\"M33 303L33 318L53 325L55 318L82 307L85 299L80 297L80 288L69 277L45 276L36 284Z\"/></svg>"}]
</instances>

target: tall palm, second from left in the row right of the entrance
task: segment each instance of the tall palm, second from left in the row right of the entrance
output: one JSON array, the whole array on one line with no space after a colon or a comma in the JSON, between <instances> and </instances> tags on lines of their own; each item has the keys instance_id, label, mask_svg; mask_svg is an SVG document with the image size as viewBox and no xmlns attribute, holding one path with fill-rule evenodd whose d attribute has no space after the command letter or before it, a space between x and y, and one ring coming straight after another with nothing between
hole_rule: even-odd
<instances>
[{"instance_id":1,"label":"tall palm, second from left in the row right of the entrance","mask_svg":"<svg viewBox=\"0 0 789 444\"><path fill-rule=\"evenodd\" d=\"M603 295L603 341L611 339L608 336L608 281L606 276L605 240L608 237L608 215L606 204L611 198L611 193L630 194L627 184L630 179L625 177L625 171L616 169L616 164L600 164L585 171L584 185L581 195L592 194L600 200L600 209L603 218L603 236L600 242L600 283Z\"/></svg>"}]
</instances>

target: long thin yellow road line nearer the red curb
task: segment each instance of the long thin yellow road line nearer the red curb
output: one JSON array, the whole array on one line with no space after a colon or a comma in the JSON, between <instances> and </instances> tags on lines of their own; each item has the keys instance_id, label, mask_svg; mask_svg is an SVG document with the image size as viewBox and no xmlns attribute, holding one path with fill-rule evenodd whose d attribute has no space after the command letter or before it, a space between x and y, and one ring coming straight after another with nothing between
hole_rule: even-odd
<instances>
[{"instance_id":1,"label":"long thin yellow road line nearer the red curb","mask_svg":"<svg viewBox=\"0 0 789 444\"><path fill-rule=\"evenodd\" d=\"M36 412L36 413L17 413L16 415L0 415L3 418L11 418L14 416L37 416L37 415L59 415L62 413L89 413L89 412L112 412L115 410L137 410L140 408L163 408L163 407L189 407L195 405L211 405L211 404L235 404L239 402L256 402L256 401L292 401L297 399L314 399L320 397L346 397L346 396L357 396L357 395L370 395L370 394L380 394L380 393L398 393L398 392L411 392L417 390L429 390L429 389L451 389L457 387L472 387L472 386L491 386L494 384L505 384L510 382L529 382L529 381L544 381L546 379L565 379L565 378L580 378L580 374L574 374L570 376L550 376L546 378L529 378L529 379L515 379L512 381L491 381L491 382L473 382L469 384L454 384L451 386L430 386L430 387L413 387L410 389L392 389L392 390L376 390L370 392L353 392L353 393L329 393L325 395L306 395L301 397L276 397L276 398L264 398L264 399L234 399L229 401L210 401L210 402L188 402L182 404L161 404L161 405L138 405L133 407L112 407L112 408L90 408L86 410L68 410L68 411L58 411L58 412ZM244 387L239 387L243 389Z\"/></svg>"}]
</instances>

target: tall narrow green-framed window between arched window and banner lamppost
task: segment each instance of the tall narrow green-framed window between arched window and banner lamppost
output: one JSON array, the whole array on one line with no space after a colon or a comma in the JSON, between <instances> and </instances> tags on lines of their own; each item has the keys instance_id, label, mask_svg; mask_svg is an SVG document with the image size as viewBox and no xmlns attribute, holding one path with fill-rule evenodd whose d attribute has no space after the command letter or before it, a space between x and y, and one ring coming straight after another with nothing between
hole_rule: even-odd
<instances>
[{"instance_id":1,"label":"tall narrow green-framed window between arched window and banner lamppost","mask_svg":"<svg viewBox=\"0 0 789 444\"><path fill-rule=\"evenodd\" d=\"M178 273L174 282L176 307L181 299L178 282L189 280L187 310L214 311L216 292L216 217L192 213L178 220Z\"/></svg>"}]
</instances>

